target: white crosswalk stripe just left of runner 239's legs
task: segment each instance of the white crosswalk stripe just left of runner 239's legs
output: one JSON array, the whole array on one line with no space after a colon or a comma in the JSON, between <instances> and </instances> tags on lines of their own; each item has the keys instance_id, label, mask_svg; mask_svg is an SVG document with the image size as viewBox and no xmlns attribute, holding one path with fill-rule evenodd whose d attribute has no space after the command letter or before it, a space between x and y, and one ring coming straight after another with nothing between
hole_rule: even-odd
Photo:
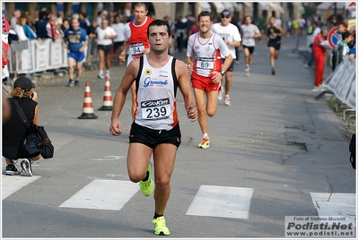
<instances>
[{"instance_id":1,"label":"white crosswalk stripe just left of runner 239's legs","mask_svg":"<svg viewBox=\"0 0 358 240\"><path fill-rule=\"evenodd\" d=\"M121 210L138 190L139 185L130 181L95 179L59 207Z\"/></svg>"}]
</instances>

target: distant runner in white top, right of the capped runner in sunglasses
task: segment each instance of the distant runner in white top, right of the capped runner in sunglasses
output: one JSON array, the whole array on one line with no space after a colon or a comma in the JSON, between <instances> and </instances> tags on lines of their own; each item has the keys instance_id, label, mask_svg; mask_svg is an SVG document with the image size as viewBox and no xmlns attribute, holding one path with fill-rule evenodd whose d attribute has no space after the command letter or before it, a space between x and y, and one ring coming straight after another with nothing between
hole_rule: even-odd
<instances>
[{"instance_id":1,"label":"distant runner in white top, right of the capped runner in sunglasses","mask_svg":"<svg viewBox=\"0 0 358 240\"><path fill-rule=\"evenodd\" d=\"M252 24L251 16L245 17L246 24L241 26L242 29L242 47L245 54L245 73L249 77L249 67L252 64L252 56L255 50L255 39L261 38L261 32L258 26Z\"/></svg>"}]
</instances>

